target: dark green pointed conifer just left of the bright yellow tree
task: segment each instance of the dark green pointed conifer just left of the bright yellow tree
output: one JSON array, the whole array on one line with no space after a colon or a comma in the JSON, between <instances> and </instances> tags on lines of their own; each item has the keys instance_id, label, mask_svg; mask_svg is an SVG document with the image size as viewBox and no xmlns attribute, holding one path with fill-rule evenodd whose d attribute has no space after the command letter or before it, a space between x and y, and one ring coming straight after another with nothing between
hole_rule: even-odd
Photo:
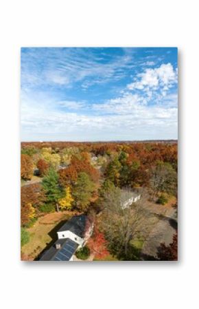
<instances>
[{"instance_id":1,"label":"dark green pointed conifer just left of the bright yellow tree","mask_svg":"<svg viewBox=\"0 0 199 309\"><path fill-rule=\"evenodd\" d=\"M54 204L58 211L58 200L63 197L63 191L58 184L58 173L52 167L43 178L42 186L45 191L47 203Z\"/></svg>"}]
</instances>

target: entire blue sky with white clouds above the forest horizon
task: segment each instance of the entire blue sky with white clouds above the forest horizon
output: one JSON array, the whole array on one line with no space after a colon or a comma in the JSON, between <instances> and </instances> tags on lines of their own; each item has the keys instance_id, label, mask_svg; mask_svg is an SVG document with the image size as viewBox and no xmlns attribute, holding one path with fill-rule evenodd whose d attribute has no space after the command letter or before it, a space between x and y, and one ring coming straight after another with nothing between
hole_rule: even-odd
<instances>
[{"instance_id":1,"label":"entire blue sky with white clouds above the forest horizon","mask_svg":"<svg viewBox=\"0 0 199 309\"><path fill-rule=\"evenodd\" d=\"M21 140L176 139L177 49L21 49Z\"/></svg>"}]
</instances>

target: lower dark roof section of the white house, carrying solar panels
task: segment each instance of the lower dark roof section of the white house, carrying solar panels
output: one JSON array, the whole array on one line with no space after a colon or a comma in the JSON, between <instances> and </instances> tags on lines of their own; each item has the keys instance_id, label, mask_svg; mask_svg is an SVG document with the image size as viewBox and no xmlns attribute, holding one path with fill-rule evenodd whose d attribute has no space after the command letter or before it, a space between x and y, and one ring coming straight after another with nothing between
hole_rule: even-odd
<instances>
[{"instance_id":1,"label":"lower dark roof section of the white house, carrying solar panels","mask_svg":"<svg viewBox=\"0 0 199 309\"><path fill-rule=\"evenodd\" d=\"M60 244L60 249L56 249L56 244ZM69 261L77 248L78 244L69 238L58 239L40 257L40 261Z\"/></svg>"}]
</instances>

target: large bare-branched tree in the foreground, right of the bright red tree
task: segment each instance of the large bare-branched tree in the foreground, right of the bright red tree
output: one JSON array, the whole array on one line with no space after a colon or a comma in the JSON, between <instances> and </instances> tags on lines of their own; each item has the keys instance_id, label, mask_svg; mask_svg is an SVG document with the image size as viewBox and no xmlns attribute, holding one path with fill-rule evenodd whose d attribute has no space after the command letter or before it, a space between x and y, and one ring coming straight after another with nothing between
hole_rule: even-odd
<instances>
[{"instance_id":1,"label":"large bare-branched tree in the foreground, right of the bright red tree","mask_svg":"<svg viewBox=\"0 0 199 309\"><path fill-rule=\"evenodd\" d=\"M152 228L149 218L151 213L145 211L143 203L147 201L147 193L139 202L133 203L129 208L122 209L119 189L105 195L104 211L102 213L101 228L106 235L110 250L117 256L131 258L132 240L146 239Z\"/></svg>"}]
</instances>

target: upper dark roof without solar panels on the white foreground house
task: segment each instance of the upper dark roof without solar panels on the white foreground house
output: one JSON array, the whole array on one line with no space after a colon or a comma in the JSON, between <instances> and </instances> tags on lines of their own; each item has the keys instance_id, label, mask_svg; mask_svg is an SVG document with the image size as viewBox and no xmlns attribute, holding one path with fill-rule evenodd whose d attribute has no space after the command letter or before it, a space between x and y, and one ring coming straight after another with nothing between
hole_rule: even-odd
<instances>
[{"instance_id":1,"label":"upper dark roof without solar panels on the white foreground house","mask_svg":"<svg viewBox=\"0 0 199 309\"><path fill-rule=\"evenodd\" d=\"M71 231L75 235L78 235L79 237L83 238L85 228L86 228L86 215L75 215L70 220L68 220L64 225L62 225L61 228L58 230L58 232Z\"/></svg>"}]
</instances>

